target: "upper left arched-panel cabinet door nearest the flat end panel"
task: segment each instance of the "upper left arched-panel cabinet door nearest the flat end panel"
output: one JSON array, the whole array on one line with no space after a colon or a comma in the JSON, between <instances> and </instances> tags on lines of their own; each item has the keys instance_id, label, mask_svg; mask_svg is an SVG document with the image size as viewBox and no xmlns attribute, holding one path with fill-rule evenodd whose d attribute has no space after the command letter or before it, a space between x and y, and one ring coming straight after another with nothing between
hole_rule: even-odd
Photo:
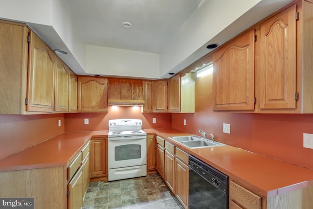
<instances>
[{"instance_id":1,"label":"upper left arched-panel cabinet door nearest the flat end panel","mask_svg":"<svg viewBox=\"0 0 313 209\"><path fill-rule=\"evenodd\" d=\"M30 34L27 110L53 112L56 56L34 32Z\"/></svg>"}]
</instances>

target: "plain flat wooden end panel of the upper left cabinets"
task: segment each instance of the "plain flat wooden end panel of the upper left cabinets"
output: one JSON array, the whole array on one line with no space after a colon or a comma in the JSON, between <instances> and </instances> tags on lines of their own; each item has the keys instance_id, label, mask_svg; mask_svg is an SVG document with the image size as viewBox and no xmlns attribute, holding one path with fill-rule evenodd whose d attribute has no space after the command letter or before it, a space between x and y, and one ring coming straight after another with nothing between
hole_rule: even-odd
<instances>
[{"instance_id":1,"label":"plain flat wooden end panel of the upper left cabinets","mask_svg":"<svg viewBox=\"0 0 313 209\"><path fill-rule=\"evenodd\" d=\"M0 20L0 114L25 111L28 32L25 24Z\"/></svg>"}]
</instances>

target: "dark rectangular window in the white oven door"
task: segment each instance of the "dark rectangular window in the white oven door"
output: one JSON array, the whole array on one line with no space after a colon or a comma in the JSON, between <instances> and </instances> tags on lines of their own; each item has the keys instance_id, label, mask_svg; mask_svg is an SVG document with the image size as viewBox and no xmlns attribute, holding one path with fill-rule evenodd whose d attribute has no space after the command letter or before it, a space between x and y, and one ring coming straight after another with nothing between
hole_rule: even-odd
<instances>
[{"instance_id":1,"label":"dark rectangular window in the white oven door","mask_svg":"<svg viewBox=\"0 0 313 209\"><path fill-rule=\"evenodd\" d=\"M131 159L141 158L141 145L140 144L125 144L114 147L115 161L125 161Z\"/></svg>"}]
</instances>

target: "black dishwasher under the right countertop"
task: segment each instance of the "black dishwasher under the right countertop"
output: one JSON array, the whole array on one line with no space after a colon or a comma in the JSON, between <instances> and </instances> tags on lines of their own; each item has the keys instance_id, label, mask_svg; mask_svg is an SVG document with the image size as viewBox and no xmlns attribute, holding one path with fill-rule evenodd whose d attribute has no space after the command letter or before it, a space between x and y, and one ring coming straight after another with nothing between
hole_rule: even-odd
<instances>
[{"instance_id":1,"label":"black dishwasher under the right countertop","mask_svg":"<svg viewBox=\"0 0 313 209\"><path fill-rule=\"evenodd\" d=\"M228 209L228 176L189 156L189 209Z\"/></svg>"}]
</instances>

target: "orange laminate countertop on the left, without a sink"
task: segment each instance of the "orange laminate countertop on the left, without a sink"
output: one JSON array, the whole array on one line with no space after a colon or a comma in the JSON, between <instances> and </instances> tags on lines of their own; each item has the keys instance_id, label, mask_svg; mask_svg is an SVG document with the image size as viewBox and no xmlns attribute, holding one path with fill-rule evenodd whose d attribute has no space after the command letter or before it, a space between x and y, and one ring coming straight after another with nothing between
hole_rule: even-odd
<instances>
[{"instance_id":1,"label":"orange laminate countertop on the left, without a sink","mask_svg":"<svg viewBox=\"0 0 313 209\"><path fill-rule=\"evenodd\" d=\"M0 160L0 172L67 166L91 137L107 135L107 131L60 134Z\"/></svg>"}]
</instances>

